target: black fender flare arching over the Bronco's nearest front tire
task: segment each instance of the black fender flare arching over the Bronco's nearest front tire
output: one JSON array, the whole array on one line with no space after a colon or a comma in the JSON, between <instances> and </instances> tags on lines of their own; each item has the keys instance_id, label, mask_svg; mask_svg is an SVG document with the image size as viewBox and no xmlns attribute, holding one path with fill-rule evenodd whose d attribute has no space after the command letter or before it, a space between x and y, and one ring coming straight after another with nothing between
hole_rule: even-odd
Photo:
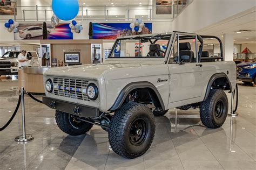
<instances>
[{"instance_id":1,"label":"black fender flare arching over the Bronco's nearest front tire","mask_svg":"<svg viewBox=\"0 0 256 170\"><path fill-rule=\"evenodd\" d=\"M141 88L148 88L154 91L156 94L156 97L158 97L158 100L160 102L161 107L165 110L164 102L161 98L161 95L159 94L159 91L157 88L151 83L147 81L141 81L141 82L132 82L127 84L119 93L119 95L116 98L116 101L114 101L114 104L109 109L109 111L117 110L121 107L121 105L124 103L126 96L134 89L141 89Z\"/></svg>"}]
</instances>

